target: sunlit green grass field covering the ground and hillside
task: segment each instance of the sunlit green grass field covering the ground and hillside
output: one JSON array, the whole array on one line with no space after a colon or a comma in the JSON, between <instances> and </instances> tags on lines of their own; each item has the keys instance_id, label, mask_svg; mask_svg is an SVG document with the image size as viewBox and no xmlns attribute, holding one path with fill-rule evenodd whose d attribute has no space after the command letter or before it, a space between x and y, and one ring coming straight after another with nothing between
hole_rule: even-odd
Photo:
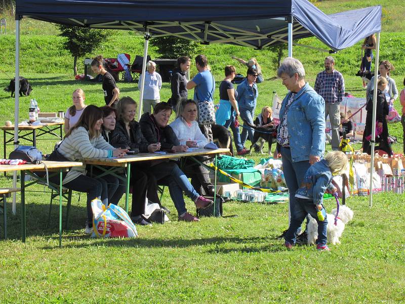
<instances>
[{"instance_id":1,"label":"sunlit green grass field covering the ground and hillside","mask_svg":"<svg viewBox=\"0 0 405 304\"><path fill-rule=\"evenodd\" d=\"M398 90L403 88L405 62L405 28L402 2L322 1L318 8L327 13L356 9L383 3L383 32L381 59L390 60L396 70L393 78ZM7 35L0 36L0 84L14 77L13 22L8 18ZM21 22L21 75L33 86L30 97L20 98L20 119L28 118L30 98L36 98L42 111L65 110L71 104L76 88L86 92L86 103L104 105L101 84L74 81L72 57L59 49L61 38L49 23L25 18ZM304 44L322 47L315 39ZM336 68L343 72L346 91L363 97L361 79L354 73L359 66L360 43L338 52ZM325 47L323 47L325 48ZM111 31L108 42L95 54L115 57L126 52L132 58L143 53L143 39L129 31ZM275 79L274 54L228 45L201 46L207 55L217 87L223 79L223 67L234 64L238 72L245 68L230 58L256 57L262 66L265 82L259 85L258 109L270 105L272 92L284 97L287 90ZM151 48L152 58L157 58ZM294 48L313 85L316 73L323 69L327 53L302 47ZM83 73L83 58L79 60ZM191 74L195 74L192 66ZM135 83L118 83L121 96L139 99ZM218 100L218 90L216 99ZM165 83L161 100L170 96ZM191 97L191 93L189 94ZM400 111L399 100L395 107ZM0 91L0 124L14 117L14 98ZM258 110L257 110L258 111ZM172 118L173 119L173 118ZM394 151L402 151L400 123L389 126L390 134L400 143ZM53 148L53 141L39 140L44 153ZM1 146L2 147L2 146ZM274 147L273 147L274 148ZM359 148L359 145L355 145ZM330 146L327 145L327 150ZM9 147L9 150L11 147ZM0 151L3 149L0 148ZM267 152L267 148L265 147ZM3 152L1 152L3 153ZM252 154L256 163L266 157ZM0 177L0 186L10 186L10 176ZM43 186L33 188L44 190ZM331 252L317 252L314 246L284 248L276 239L287 229L287 204L255 204L229 202L224 215L236 218L203 218L198 223L177 221L177 214L166 190L163 204L173 212L171 222L151 227L138 226L138 239L99 240L84 235L86 218L85 196L78 202L73 196L70 227L63 234L62 248L58 247L58 208L52 211L48 226L50 194L27 193L27 242L20 238L20 204L17 214L8 205L9 237L0 241L0 303L115 303L115 302L211 302L211 303L268 303L268 302L404 302L405 254L404 195L376 194L373 208L368 197L351 197L348 206L354 219L346 225L341 244L331 246ZM121 200L123 202L123 200ZM194 204L186 199L189 211ZM121 205L123 205L121 203ZM335 207L326 202L328 211ZM65 214L65 205L63 214ZM3 215L1 215L2 217ZM3 221L0 220L0 238Z\"/></svg>"}]
</instances>

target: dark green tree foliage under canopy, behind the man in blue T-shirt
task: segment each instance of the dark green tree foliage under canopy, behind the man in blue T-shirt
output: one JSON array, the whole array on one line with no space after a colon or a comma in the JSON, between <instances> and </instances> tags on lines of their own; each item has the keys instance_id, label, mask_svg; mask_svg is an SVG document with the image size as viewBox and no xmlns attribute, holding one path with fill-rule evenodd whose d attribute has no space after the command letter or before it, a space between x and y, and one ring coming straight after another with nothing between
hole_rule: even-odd
<instances>
[{"instance_id":1,"label":"dark green tree foliage under canopy, behind the man in blue T-shirt","mask_svg":"<svg viewBox=\"0 0 405 304\"><path fill-rule=\"evenodd\" d=\"M192 58L197 53L198 44L175 36L152 37L150 44L157 48L161 58L177 59L180 56Z\"/></svg>"}]
</instances>

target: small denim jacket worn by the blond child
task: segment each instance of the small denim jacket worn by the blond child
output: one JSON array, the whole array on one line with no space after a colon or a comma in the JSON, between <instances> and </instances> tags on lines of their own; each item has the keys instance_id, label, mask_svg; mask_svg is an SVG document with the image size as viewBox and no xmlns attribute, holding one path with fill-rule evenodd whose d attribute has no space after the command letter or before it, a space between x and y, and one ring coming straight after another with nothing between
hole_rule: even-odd
<instances>
[{"instance_id":1,"label":"small denim jacket worn by the blond child","mask_svg":"<svg viewBox=\"0 0 405 304\"><path fill-rule=\"evenodd\" d=\"M305 172L304 179L296 191L296 195L313 200L315 205L322 204L326 189L332 189L332 172L326 160L316 162Z\"/></svg>"}]
</instances>

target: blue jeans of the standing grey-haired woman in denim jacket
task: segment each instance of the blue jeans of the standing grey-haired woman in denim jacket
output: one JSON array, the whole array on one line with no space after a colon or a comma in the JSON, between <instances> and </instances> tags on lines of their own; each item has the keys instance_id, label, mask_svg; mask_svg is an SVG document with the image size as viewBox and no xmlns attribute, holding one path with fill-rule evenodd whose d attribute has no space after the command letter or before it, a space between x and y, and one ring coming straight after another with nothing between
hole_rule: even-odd
<instances>
[{"instance_id":1,"label":"blue jeans of the standing grey-haired woman in denim jacket","mask_svg":"<svg viewBox=\"0 0 405 304\"><path fill-rule=\"evenodd\" d=\"M290 149L281 146L279 152L281 153L282 171L290 193L290 212L294 214L296 205L295 192L304 179L305 172L311 165L309 161L293 162Z\"/></svg>"}]
</instances>

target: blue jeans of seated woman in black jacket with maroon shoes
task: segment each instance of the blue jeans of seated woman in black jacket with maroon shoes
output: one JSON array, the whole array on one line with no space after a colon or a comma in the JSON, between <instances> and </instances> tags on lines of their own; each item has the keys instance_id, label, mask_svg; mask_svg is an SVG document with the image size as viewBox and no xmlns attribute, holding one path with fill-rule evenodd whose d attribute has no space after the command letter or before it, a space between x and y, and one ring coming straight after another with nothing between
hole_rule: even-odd
<instances>
[{"instance_id":1,"label":"blue jeans of seated woman in black jacket with maroon shoes","mask_svg":"<svg viewBox=\"0 0 405 304\"><path fill-rule=\"evenodd\" d=\"M166 180L169 183L170 197L179 215L187 212L183 191L192 201L195 201L199 197L199 194L195 191L187 176L175 162L160 163L150 167L148 171L155 175L158 184L159 180L168 177Z\"/></svg>"}]
</instances>

